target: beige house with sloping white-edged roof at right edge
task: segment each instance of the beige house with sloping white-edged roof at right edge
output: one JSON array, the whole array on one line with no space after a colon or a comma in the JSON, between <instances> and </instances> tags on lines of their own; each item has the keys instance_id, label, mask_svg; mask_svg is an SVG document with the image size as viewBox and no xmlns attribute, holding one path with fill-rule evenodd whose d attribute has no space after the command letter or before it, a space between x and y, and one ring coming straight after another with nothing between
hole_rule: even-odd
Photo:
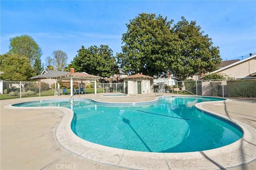
<instances>
[{"instance_id":1,"label":"beige house with sloping white-edged roof at right edge","mask_svg":"<svg viewBox=\"0 0 256 170\"><path fill-rule=\"evenodd\" d=\"M256 78L256 55L250 53L250 57L229 64L212 73L227 74L235 79Z\"/></svg>"}]
</instances>

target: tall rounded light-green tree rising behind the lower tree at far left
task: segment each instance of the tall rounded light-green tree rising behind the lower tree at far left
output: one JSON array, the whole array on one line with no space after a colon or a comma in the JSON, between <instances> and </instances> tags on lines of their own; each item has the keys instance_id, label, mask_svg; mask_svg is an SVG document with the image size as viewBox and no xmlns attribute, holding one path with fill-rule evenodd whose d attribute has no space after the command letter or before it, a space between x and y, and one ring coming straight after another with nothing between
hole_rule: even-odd
<instances>
[{"instance_id":1,"label":"tall rounded light-green tree rising behind the lower tree at far left","mask_svg":"<svg viewBox=\"0 0 256 170\"><path fill-rule=\"evenodd\" d=\"M42 56L42 49L36 41L28 35L10 38L9 52L17 54L19 57L27 57L31 66L34 65L36 59L40 59Z\"/></svg>"}]
</instances>

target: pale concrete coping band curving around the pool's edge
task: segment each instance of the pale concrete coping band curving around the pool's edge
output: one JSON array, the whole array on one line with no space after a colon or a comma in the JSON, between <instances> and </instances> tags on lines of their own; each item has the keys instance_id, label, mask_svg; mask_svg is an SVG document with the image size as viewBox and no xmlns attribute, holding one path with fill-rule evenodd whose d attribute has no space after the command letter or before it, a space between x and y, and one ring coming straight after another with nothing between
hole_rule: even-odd
<instances>
[{"instance_id":1,"label":"pale concrete coping band curving around the pool's edge","mask_svg":"<svg viewBox=\"0 0 256 170\"><path fill-rule=\"evenodd\" d=\"M174 96L172 96L174 97ZM161 96L160 98L164 98ZM60 101L59 99L57 99ZM50 101L57 101L50 100ZM64 99L65 100L65 99ZM78 100L84 100L80 98ZM89 99L92 100L92 99ZM49 101L49 100L48 100ZM95 100L93 100L95 101ZM155 102L150 101L150 102ZM223 103L224 101L214 101ZM225 102L228 102L226 100ZM147 103L147 102L141 102ZM207 102L196 104L196 107L204 112L218 115L224 119L228 117L210 112L202 106ZM212 102L211 102L212 103ZM71 122L74 112L64 107L14 107L5 106L10 109L58 109L64 113L62 120L56 127L56 139L58 143L69 152L82 156L84 158L102 162L112 166L124 167L129 169L220 169L220 164L224 168L236 167L245 162L252 162L256 155L253 150L256 149L256 143L246 141L256 141L256 135L250 133L255 128L238 120L230 120L239 125L244 135L238 141L224 147L204 150L200 152L182 152L182 153L156 153L156 152L139 152L132 150L116 149L105 147L95 143L85 141L77 137L71 130ZM243 146L243 150L240 147ZM241 159L242 154L242 159ZM217 162L215 164L214 162Z\"/></svg>"}]
</instances>

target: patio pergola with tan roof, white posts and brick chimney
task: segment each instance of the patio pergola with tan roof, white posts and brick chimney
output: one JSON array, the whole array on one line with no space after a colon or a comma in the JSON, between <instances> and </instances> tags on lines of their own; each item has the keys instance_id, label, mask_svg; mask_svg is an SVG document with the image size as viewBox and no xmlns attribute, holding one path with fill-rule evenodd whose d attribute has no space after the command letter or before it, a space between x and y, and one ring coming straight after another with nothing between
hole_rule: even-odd
<instances>
[{"instance_id":1,"label":"patio pergola with tan roof, white posts and brick chimney","mask_svg":"<svg viewBox=\"0 0 256 170\"><path fill-rule=\"evenodd\" d=\"M100 76L94 76L91 74L86 74L82 72L75 72L74 68L70 68L69 74L64 74L61 76L54 77L56 80L70 80L70 96L73 96L73 80L74 81L83 81L83 80L94 80L94 94L97 93L97 84L96 81L100 78Z\"/></svg>"}]
</instances>

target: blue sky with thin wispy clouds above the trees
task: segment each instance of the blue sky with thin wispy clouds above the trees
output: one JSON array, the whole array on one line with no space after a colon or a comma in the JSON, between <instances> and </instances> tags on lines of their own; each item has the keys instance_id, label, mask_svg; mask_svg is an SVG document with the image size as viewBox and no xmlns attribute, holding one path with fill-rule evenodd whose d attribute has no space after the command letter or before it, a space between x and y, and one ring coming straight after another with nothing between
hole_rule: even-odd
<instances>
[{"instance_id":1,"label":"blue sky with thin wispy clouds above the trees","mask_svg":"<svg viewBox=\"0 0 256 170\"><path fill-rule=\"evenodd\" d=\"M9 51L10 38L31 36L45 57L61 50L68 64L84 45L108 45L122 52L126 23L138 14L154 13L177 23L184 16L196 21L220 47L223 60L244 59L256 53L256 1L0 1L1 49ZM172 25L173 26L173 25ZM243 56L243 57L242 57Z\"/></svg>"}]
</instances>

